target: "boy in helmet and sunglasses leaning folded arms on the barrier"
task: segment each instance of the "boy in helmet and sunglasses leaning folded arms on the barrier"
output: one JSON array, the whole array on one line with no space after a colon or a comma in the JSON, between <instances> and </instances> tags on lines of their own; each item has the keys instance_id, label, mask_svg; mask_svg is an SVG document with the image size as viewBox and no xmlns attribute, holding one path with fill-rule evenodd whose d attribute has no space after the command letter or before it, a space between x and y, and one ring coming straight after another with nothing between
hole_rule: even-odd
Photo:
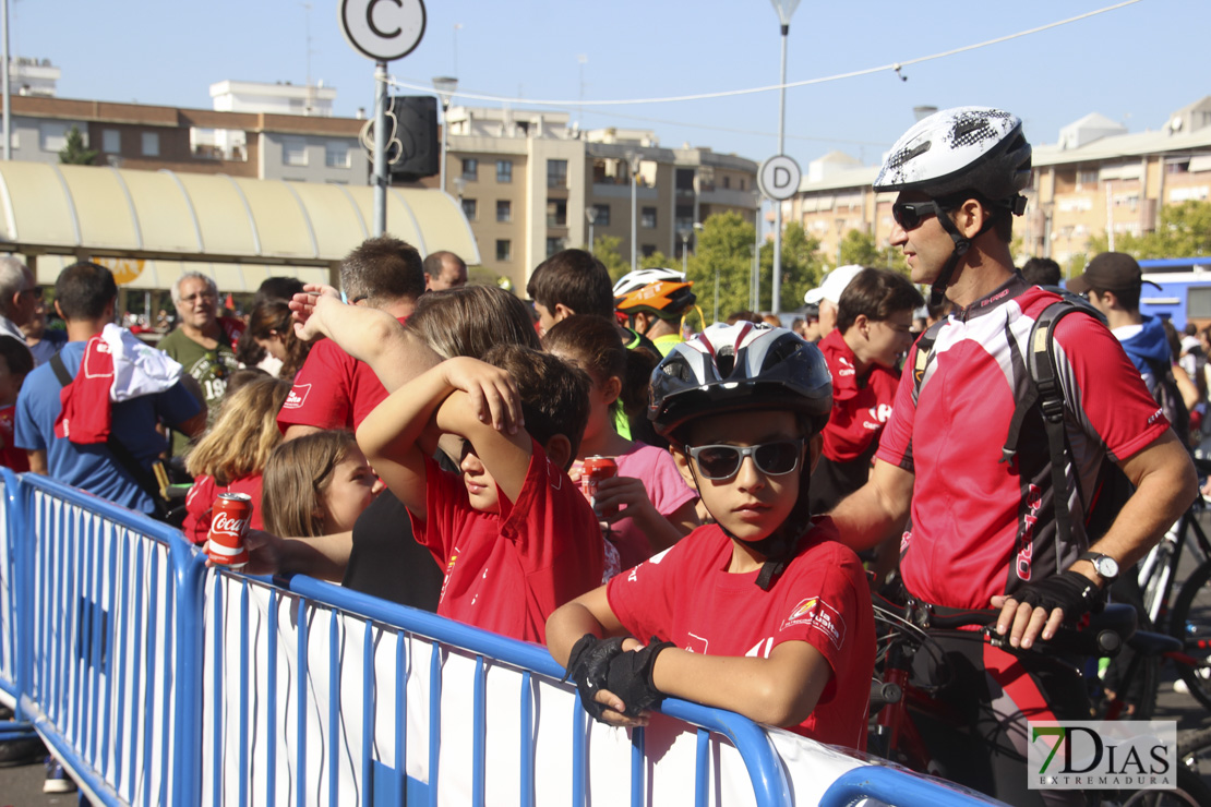
<instances>
[{"instance_id":1,"label":"boy in helmet and sunglasses leaning folded arms on the barrier","mask_svg":"<svg viewBox=\"0 0 1211 807\"><path fill-rule=\"evenodd\" d=\"M648 415L714 523L547 621L590 714L644 725L675 696L865 748L871 594L807 495L831 407L819 348L782 328L712 325L660 363Z\"/></svg>"}]
</instances>

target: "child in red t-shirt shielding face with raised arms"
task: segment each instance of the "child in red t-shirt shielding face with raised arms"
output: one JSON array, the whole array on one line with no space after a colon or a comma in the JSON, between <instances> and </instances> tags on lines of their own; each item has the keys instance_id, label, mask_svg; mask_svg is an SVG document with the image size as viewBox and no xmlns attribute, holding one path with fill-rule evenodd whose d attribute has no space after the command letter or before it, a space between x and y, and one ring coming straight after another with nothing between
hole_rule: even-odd
<instances>
[{"instance_id":1,"label":"child in red t-shirt shielding face with raised arms","mask_svg":"<svg viewBox=\"0 0 1211 807\"><path fill-rule=\"evenodd\" d=\"M589 379L517 345L486 358L421 374L362 421L357 439L446 570L437 613L544 641L551 612L602 577L596 517L567 474L589 417ZM520 410L505 403L516 398ZM498 431L493 405L524 428ZM427 456L443 432L463 439L458 474Z\"/></svg>"}]
</instances>

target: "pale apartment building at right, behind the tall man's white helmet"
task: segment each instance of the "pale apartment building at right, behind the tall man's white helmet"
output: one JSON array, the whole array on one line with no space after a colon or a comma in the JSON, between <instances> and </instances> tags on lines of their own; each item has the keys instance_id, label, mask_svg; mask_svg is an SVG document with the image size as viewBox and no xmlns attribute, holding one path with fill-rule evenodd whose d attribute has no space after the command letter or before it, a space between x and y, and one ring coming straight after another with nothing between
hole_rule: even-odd
<instances>
[{"instance_id":1,"label":"pale apartment building at right, behind the tall man's white helmet","mask_svg":"<svg viewBox=\"0 0 1211 807\"><path fill-rule=\"evenodd\" d=\"M1026 215L1014 224L1023 252L1017 258L1083 264L1091 237L1150 232L1161 207L1211 198L1211 96L1140 133L1086 115L1064 126L1056 143L1037 143L1033 167ZM826 255L837 254L849 230L868 232L885 247L895 195L874 192L877 175L877 166L827 154L809 163L799 192L784 203L784 218L802 221Z\"/></svg>"}]
</instances>

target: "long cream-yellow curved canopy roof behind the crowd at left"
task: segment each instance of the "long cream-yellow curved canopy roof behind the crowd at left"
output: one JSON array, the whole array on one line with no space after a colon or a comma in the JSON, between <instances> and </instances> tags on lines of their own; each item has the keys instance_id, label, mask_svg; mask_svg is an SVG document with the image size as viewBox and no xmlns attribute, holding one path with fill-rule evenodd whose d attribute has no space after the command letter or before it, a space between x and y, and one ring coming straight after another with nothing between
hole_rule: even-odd
<instances>
[{"instance_id":1,"label":"long cream-yellow curved canopy roof behind the crowd at left","mask_svg":"<svg viewBox=\"0 0 1211 807\"><path fill-rule=\"evenodd\" d=\"M423 255L481 263L454 197L409 188L389 189L386 201L389 234ZM117 275L132 288L167 288L196 269L239 292L270 275L327 281L371 235L374 200L368 186L0 162L0 252L39 258L39 282L71 260L109 256L125 261Z\"/></svg>"}]
</instances>

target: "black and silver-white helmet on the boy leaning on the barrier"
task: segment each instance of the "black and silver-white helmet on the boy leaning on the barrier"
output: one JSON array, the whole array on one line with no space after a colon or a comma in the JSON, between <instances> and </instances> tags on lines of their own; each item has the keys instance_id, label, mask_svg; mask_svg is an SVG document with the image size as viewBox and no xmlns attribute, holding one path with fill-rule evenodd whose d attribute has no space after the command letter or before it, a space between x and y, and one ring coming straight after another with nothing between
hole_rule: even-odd
<instances>
[{"instance_id":1,"label":"black and silver-white helmet on the boy leaning on the barrier","mask_svg":"<svg viewBox=\"0 0 1211 807\"><path fill-rule=\"evenodd\" d=\"M714 324L676 345L652 373L648 419L664 437L704 415L784 408L807 416L809 437L832 410L823 354L786 328Z\"/></svg>"}]
</instances>

